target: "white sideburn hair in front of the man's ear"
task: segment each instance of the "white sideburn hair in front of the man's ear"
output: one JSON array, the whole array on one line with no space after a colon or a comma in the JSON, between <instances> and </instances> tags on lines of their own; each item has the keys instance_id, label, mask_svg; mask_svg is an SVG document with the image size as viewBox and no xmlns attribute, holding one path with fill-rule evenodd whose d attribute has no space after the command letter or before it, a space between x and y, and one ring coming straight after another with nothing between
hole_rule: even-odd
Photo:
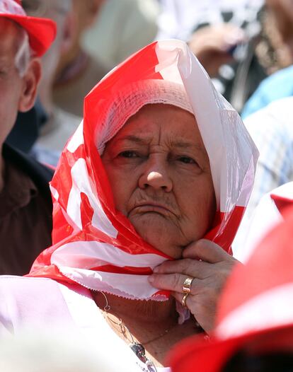
<instances>
[{"instance_id":1,"label":"white sideburn hair in front of the man's ear","mask_svg":"<svg viewBox=\"0 0 293 372\"><path fill-rule=\"evenodd\" d=\"M18 40L17 40L17 51L14 63L18 73L21 77L25 74L30 63L30 58L33 55L33 51L30 50L30 42L28 40L28 33L19 28Z\"/></svg>"}]
</instances>

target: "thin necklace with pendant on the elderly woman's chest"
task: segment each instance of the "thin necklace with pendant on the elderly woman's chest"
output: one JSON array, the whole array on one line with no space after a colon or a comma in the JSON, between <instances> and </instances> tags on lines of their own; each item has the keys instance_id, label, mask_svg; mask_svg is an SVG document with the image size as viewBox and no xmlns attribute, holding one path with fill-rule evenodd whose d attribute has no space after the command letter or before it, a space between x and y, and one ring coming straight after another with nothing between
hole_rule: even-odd
<instances>
[{"instance_id":1,"label":"thin necklace with pendant on the elderly woman's chest","mask_svg":"<svg viewBox=\"0 0 293 372\"><path fill-rule=\"evenodd\" d=\"M156 336L154 339L150 339L149 341L144 342L144 344L141 344L140 342L135 341L132 333L130 332L128 327L125 325L125 323L123 322L123 320L119 316L113 314L117 318L118 322L115 322L115 320L110 318L110 315L109 315L110 305L108 303L108 298L107 298L107 296L105 295L104 292L100 291L100 293L105 298L105 306L103 307L103 310L105 311L105 315L107 316L108 321L120 327L120 333L123 335L123 337L125 337L125 339L127 339L127 342L129 342L130 349L132 349L132 351L138 357L138 359L146 365L146 368L148 368L148 371L149 372L156 372L157 371L156 366L154 365L154 362L151 361L146 356L146 350L145 350L144 346L147 345L147 344L150 344L151 342L156 341L157 339L160 339L163 336L165 336L174 327L174 325L173 325L173 327L170 327L167 330L165 330L164 332L162 332L159 336ZM127 333L128 333L128 335L130 335L130 339L127 336Z\"/></svg>"}]
</instances>

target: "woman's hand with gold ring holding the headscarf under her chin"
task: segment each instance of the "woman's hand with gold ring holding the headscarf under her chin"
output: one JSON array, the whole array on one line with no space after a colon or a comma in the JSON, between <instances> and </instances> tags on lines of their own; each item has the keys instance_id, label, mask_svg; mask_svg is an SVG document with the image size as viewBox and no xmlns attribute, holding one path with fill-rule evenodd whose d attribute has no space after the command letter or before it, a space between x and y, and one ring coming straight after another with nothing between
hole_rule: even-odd
<instances>
[{"instance_id":1,"label":"woman's hand with gold ring holding the headscarf under her chin","mask_svg":"<svg viewBox=\"0 0 293 372\"><path fill-rule=\"evenodd\" d=\"M205 332L210 332L214 327L219 295L236 263L238 261L219 245L202 239L185 248L182 260L166 261L156 267L149 281L155 288L171 291L172 296L182 303L183 283L188 277L194 278L186 307Z\"/></svg>"}]
</instances>

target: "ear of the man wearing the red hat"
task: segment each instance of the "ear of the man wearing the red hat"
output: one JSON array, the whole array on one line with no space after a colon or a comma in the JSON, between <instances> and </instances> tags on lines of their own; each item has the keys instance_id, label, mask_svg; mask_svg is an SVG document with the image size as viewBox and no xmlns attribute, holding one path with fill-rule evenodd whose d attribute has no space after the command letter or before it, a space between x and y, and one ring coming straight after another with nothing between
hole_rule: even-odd
<instances>
[{"instance_id":1,"label":"ear of the man wearing the red hat","mask_svg":"<svg viewBox=\"0 0 293 372\"><path fill-rule=\"evenodd\" d=\"M38 83L42 74L42 66L40 58L32 58L28 69L25 72L22 81L21 97L18 103L18 111L26 112L30 110L35 104L35 97L37 95Z\"/></svg>"}]
</instances>

